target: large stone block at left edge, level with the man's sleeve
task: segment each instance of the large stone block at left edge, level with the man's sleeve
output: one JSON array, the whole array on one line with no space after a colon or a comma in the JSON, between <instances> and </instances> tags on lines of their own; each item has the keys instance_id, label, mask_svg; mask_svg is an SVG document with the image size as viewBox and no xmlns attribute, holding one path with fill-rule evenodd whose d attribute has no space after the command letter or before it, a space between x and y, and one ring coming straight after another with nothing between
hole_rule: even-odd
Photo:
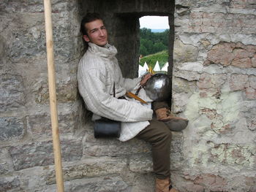
<instances>
[{"instance_id":1,"label":"large stone block at left edge, level with the man's sleeve","mask_svg":"<svg viewBox=\"0 0 256 192\"><path fill-rule=\"evenodd\" d=\"M20 107L24 107L23 80L19 75L1 74L0 93L0 112L18 110Z\"/></svg>"}]
</instances>

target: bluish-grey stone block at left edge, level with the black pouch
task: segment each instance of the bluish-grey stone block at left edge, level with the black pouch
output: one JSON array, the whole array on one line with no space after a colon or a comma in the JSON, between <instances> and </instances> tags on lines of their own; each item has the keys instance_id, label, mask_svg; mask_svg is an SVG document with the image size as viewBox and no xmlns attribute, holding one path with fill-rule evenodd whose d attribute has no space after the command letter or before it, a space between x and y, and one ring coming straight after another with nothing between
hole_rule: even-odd
<instances>
[{"instance_id":1,"label":"bluish-grey stone block at left edge, level with the black pouch","mask_svg":"<svg viewBox=\"0 0 256 192\"><path fill-rule=\"evenodd\" d=\"M25 134L24 119L18 117L0 118L0 141L21 139Z\"/></svg>"}]
</instances>

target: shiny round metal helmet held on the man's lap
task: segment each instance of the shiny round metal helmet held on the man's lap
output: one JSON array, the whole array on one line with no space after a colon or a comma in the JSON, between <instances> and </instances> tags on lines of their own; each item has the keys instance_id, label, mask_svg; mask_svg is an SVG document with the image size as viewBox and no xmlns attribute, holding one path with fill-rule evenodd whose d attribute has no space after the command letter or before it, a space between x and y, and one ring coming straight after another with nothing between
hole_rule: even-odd
<instances>
[{"instance_id":1,"label":"shiny round metal helmet held on the man's lap","mask_svg":"<svg viewBox=\"0 0 256 192\"><path fill-rule=\"evenodd\" d=\"M170 98L171 86L169 75L157 73L146 82L145 91L153 101L166 101Z\"/></svg>"}]
</instances>

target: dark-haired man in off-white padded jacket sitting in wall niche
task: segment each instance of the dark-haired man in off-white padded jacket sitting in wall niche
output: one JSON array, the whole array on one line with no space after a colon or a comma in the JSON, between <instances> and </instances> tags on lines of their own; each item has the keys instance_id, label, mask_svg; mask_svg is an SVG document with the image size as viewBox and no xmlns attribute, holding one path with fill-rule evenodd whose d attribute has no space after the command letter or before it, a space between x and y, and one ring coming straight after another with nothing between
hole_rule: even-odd
<instances>
[{"instance_id":1,"label":"dark-haired man in off-white padded jacket sitting in wall niche","mask_svg":"<svg viewBox=\"0 0 256 192\"><path fill-rule=\"evenodd\" d=\"M170 183L170 140L168 123L173 122L165 102L154 103L157 119L152 119L151 99L145 91L140 97L148 104L140 104L133 99L118 99L127 91L134 91L144 85L150 74L141 78L125 79L115 57L117 50L108 44L108 32L96 13L88 13L81 22L81 31L86 43L86 53L78 65L78 88L86 103L86 108L94 113L93 120L101 117L121 121L121 134L124 142L133 137L151 143L157 192L177 192ZM116 98L113 97L115 86ZM160 121L161 120L161 121ZM187 126L187 120L175 119ZM165 121L165 122L163 122Z\"/></svg>"}]
</instances>

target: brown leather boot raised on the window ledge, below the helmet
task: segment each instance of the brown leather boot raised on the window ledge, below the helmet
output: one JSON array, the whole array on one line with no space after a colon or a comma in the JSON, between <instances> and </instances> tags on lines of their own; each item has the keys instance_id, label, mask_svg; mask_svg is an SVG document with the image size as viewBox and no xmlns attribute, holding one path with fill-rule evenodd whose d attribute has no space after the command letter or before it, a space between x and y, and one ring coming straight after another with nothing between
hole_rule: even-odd
<instances>
[{"instance_id":1,"label":"brown leather boot raised on the window ledge, below the helmet","mask_svg":"<svg viewBox=\"0 0 256 192\"><path fill-rule=\"evenodd\" d=\"M157 120L161 120L170 128L170 131L181 131L187 127L189 120L175 117L167 107L159 108L156 111Z\"/></svg>"}]
</instances>

